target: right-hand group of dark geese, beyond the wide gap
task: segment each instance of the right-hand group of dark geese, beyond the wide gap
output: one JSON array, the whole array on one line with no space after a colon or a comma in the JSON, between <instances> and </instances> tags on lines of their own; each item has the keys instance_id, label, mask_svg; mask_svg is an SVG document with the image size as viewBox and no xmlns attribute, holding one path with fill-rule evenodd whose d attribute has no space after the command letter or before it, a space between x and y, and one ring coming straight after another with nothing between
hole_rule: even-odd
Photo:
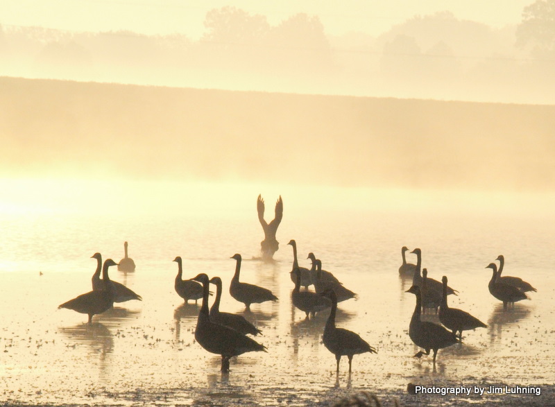
<instances>
[{"instance_id":1,"label":"right-hand group of dark geese, beyond the wide gap","mask_svg":"<svg viewBox=\"0 0 555 407\"><path fill-rule=\"evenodd\" d=\"M487 325L466 311L451 308L447 304L447 296L456 295L458 291L447 285L446 276L443 276L441 282L438 282L427 277L425 268L422 269L421 275L422 250L416 248L411 252L416 254L416 264L407 263L406 252L408 250L406 246L401 249L402 264L399 274L404 277L412 277L413 284L407 293L416 295L416 307L409 325L409 337L413 343L426 351L420 351L414 356L420 358L424 354L429 355L433 350L434 363L436 363L438 349L461 343L463 331L480 327L486 328ZM536 288L533 288L528 282L524 282L520 277L502 277L501 272L505 262L503 255L499 255L497 261L499 261L499 269L497 269L496 263L486 266L493 271L488 288L493 297L503 302L503 309L506 311L507 307L513 307L515 302L529 299L526 293L536 291ZM434 324L434 322L422 321L421 315L425 313L426 309L434 309L443 326Z\"/></svg>"}]
</instances>

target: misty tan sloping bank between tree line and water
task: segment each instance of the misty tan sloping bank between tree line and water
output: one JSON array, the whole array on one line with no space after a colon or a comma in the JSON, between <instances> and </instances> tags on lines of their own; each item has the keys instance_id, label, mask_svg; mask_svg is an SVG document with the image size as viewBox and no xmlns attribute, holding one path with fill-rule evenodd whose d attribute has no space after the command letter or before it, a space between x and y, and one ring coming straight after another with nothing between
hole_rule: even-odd
<instances>
[{"instance_id":1,"label":"misty tan sloping bank between tree line and water","mask_svg":"<svg viewBox=\"0 0 555 407\"><path fill-rule=\"evenodd\" d=\"M552 191L555 107L0 79L0 175Z\"/></svg>"}]
</instances>

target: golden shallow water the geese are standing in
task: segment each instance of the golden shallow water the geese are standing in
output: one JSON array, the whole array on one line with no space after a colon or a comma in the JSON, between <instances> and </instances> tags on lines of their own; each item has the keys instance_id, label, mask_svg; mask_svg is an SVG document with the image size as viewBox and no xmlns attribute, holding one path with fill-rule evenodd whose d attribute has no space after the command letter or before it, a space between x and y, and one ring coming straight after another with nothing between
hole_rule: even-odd
<instances>
[{"instance_id":1,"label":"golden shallow water the geese are standing in","mask_svg":"<svg viewBox=\"0 0 555 407\"><path fill-rule=\"evenodd\" d=\"M253 196L256 197L256 193ZM0 248L0 401L10 404L72 405L328 405L369 391L393 405L547 405L554 400L555 358L552 231L555 218L522 212L401 211L336 209L287 211L278 230L274 263L259 255L262 228L256 213L182 216L155 213L78 216L6 214ZM254 207L253 207L254 211ZM268 215L269 216L269 215ZM308 252L322 259L358 300L339 304L337 324L357 332L377 354L346 358L339 375L321 343L327 313L305 320L291 304L289 278L296 239L301 265ZM94 317L58 304L90 290L94 252L119 261L123 241L135 272L110 269L112 279L142 295L143 302L117 304ZM400 248L422 248L429 276L449 277L459 296L450 306L488 324L466 331L463 344L431 356L408 336L415 297L400 278ZM183 304L173 291L177 265L184 278L198 272L223 279L221 309L244 313L228 293L235 252L243 254L241 281L270 288L279 302L252 306L246 318L263 331L257 340L268 353L234 358L231 372L219 372L219 356L194 341L199 306ZM538 288L531 300L504 312L488 292L485 266L504 254L504 274L519 275ZM414 262L412 254L407 254ZM429 320L436 320L428 315ZM460 387L540 386L542 395L408 395L407 384Z\"/></svg>"}]
</instances>

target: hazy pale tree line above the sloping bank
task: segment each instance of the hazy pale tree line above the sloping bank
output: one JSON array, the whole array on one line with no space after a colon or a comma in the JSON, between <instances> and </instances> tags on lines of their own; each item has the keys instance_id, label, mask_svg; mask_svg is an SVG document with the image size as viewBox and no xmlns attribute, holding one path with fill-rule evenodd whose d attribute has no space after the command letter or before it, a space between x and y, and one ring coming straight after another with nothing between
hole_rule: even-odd
<instances>
[{"instance_id":1,"label":"hazy pale tree line above the sloping bank","mask_svg":"<svg viewBox=\"0 0 555 407\"><path fill-rule=\"evenodd\" d=\"M1 21L0 21L1 22ZM198 41L0 26L0 75L269 92L555 103L555 0L493 29L450 12L370 37L304 13L271 25L227 6Z\"/></svg>"}]
</instances>

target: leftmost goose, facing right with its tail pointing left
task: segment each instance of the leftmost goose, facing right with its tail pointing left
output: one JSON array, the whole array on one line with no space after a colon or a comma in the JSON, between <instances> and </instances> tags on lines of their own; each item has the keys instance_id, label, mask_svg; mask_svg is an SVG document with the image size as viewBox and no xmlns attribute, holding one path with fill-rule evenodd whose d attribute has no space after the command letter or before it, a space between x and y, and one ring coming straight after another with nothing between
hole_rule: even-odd
<instances>
[{"instance_id":1,"label":"leftmost goose, facing right with its tail pointing left","mask_svg":"<svg viewBox=\"0 0 555 407\"><path fill-rule=\"evenodd\" d=\"M114 289L110 284L110 277L108 277L108 267L117 266L117 263L112 259L104 261L102 267L102 279L104 282L104 289L100 291L89 291L88 293L81 294L73 300L69 300L60 304L58 309L66 308L77 311L78 313L86 313L89 315L89 324L92 324L92 316L108 311L114 305Z\"/></svg>"}]
</instances>

